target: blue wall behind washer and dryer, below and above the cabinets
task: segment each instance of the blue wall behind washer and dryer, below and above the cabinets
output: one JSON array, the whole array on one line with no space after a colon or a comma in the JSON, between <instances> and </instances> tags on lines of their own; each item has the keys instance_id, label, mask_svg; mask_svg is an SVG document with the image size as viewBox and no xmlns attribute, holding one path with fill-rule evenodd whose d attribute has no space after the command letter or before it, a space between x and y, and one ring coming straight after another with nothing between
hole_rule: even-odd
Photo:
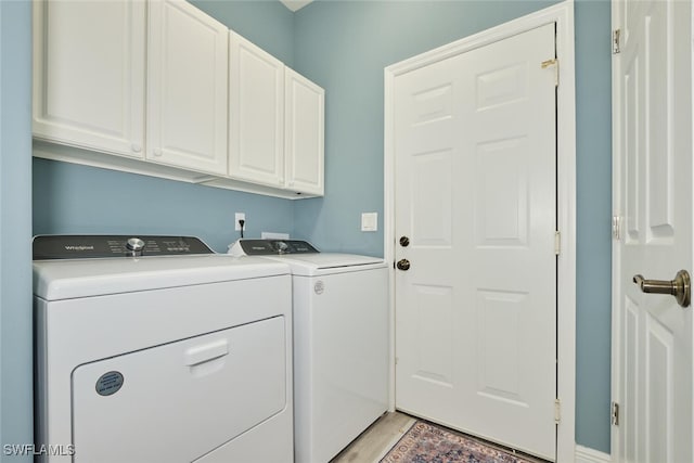
<instances>
[{"instance_id":1,"label":"blue wall behind washer and dryer, below and above the cabinets","mask_svg":"<svg viewBox=\"0 0 694 463\"><path fill-rule=\"evenodd\" d=\"M280 2L192 3L283 62L293 62L294 14ZM34 234L192 234L226 252L239 236L236 211L246 214L246 236L294 231L290 200L34 160Z\"/></svg>"}]
</instances>

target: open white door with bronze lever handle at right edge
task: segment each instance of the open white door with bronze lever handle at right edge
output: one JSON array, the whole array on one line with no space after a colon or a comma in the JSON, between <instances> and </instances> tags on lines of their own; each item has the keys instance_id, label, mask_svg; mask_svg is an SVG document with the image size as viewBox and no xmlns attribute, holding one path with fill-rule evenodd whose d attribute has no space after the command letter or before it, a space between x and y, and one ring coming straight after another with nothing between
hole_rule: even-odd
<instances>
[{"instance_id":1,"label":"open white door with bronze lever handle at right edge","mask_svg":"<svg viewBox=\"0 0 694 463\"><path fill-rule=\"evenodd\" d=\"M692 307L633 276L692 271L692 2L618 1L614 55L613 330L624 462L694 461Z\"/></svg>"}]
</instances>

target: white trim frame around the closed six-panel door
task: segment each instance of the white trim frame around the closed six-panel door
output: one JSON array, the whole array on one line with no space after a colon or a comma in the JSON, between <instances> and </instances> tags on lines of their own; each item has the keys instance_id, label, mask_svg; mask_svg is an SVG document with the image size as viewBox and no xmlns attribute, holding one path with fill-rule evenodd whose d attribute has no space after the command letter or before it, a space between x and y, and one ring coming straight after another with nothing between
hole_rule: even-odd
<instances>
[{"instance_id":1,"label":"white trim frame around the closed six-panel door","mask_svg":"<svg viewBox=\"0 0 694 463\"><path fill-rule=\"evenodd\" d=\"M557 396L562 417L557 427L557 462L571 463L576 456L576 91L574 61L574 1L566 0L500 26L385 68L384 120L384 255L395 259L395 152L394 99L396 76L447 57L474 50L536 27L556 24L556 50L560 61L557 88L557 221L562 233L557 267L558 297L558 376ZM395 278L390 268L390 410L395 409Z\"/></svg>"}]
</instances>

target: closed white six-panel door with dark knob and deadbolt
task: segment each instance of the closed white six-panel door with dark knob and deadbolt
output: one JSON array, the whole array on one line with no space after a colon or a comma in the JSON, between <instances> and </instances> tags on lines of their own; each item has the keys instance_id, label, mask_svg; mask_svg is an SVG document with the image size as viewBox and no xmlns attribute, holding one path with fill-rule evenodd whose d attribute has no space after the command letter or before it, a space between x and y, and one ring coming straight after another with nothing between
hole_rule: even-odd
<instances>
[{"instance_id":1,"label":"closed white six-panel door with dark knob and deadbolt","mask_svg":"<svg viewBox=\"0 0 694 463\"><path fill-rule=\"evenodd\" d=\"M396 77L396 407L555 458L554 24ZM404 266L407 267L407 266Z\"/></svg>"}]
</instances>

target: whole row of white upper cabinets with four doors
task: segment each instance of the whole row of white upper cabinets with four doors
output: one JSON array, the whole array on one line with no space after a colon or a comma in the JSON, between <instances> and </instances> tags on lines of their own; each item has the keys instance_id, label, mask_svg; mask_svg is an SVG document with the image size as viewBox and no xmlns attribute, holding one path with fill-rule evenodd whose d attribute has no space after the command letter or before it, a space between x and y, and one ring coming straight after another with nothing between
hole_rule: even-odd
<instances>
[{"instance_id":1,"label":"whole row of white upper cabinets with four doors","mask_svg":"<svg viewBox=\"0 0 694 463\"><path fill-rule=\"evenodd\" d=\"M33 3L34 156L323 194L324 92L280 60L184 0Z\"/></svg>"}]
</instances>

